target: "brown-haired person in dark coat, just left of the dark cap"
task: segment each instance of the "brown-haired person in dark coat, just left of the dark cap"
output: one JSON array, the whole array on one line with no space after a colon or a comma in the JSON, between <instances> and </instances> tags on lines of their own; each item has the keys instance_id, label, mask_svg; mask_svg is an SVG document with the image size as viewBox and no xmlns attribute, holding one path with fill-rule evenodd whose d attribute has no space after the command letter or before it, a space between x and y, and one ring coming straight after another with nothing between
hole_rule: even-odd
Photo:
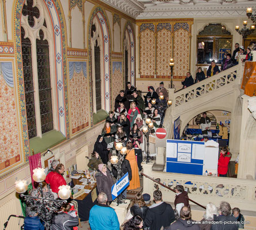
<instances>
[{"instance_id":1,"label":"brown-haired person in dark coat, just left of the dark cap","mask_svg":"<svg viewBox=\"0 0 256 230\"><path fill-rule=\"evenodd\" d=\"M130 209L132 216L139 215L140 217L142 217L142 220L144 221L146 218L147 210L148 206L144 202L142 193L137 193L135 195L133 205L131 206Z\"/></svg>"}]
</instances>

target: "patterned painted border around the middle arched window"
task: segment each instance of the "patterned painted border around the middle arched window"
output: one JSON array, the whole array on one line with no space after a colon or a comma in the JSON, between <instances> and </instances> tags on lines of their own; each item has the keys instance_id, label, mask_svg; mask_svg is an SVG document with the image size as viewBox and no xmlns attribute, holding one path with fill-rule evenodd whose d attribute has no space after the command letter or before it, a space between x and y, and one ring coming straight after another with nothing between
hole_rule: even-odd
<instances>
[{"instance_id":1,"label":"patterned painted border around the middle arched window","mask_svg":"<svg viewBox=\"0 0 256 230\"><path fill-rule=\"evenodd\" d=\"M95 6L91 10L90 20L88 23L87 28L87 36L88 36L88 74L89 74L89 85L91 86L91 26L93 25L93 18L97 17L101 24L101 30L103 35L103 42L104 42L104 93L105 93L105 110L109 111L112 108L111 102L111 94L110 94L110 86L112 85L112 70L110 68L110 63L112 59L112 50L111 50L111 34L110 34L110 26L109 20L106 16L105 11L100 6ZM92 98L92 91L90 89L90 114L91 114L91 127L93 127L93 98Z\"/></svg>"}]
</instances>

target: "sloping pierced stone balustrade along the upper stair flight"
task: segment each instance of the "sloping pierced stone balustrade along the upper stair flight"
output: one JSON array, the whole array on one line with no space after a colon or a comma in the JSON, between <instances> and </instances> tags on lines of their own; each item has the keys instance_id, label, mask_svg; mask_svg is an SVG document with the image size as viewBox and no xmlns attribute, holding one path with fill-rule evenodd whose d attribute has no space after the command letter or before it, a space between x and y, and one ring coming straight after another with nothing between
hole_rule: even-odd
<instances>
[{"instance_id":1,"label":"sloping pierced stone balustrade along the upper stair flight","mask_svg":"<svg viewBox=\"0 0 256 230\"><path fill-rule=\"evenodd\" d=\"M186 102L190 102L193 99L204 97L209 93L214 93L230 83L234 83L238 76L238 68L240 65L229 68L226 71L220 72L210 78L207 78L201 82L198 82L186 89L182 89L174 93L174 105L184 105ZM241 76L239 76L240 78Z\"/></svg>"}]
</instances>

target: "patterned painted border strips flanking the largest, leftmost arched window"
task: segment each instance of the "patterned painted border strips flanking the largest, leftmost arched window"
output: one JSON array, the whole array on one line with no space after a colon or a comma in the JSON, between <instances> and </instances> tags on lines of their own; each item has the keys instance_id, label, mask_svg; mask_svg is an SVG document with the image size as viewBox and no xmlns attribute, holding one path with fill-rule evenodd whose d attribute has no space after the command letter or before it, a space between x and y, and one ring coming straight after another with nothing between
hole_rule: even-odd
<instances>
[{"instance_id":1,"label":"patterned painted border strips flanking the largest, leftmost arched window","mask_svg":"<svg viewBox=\"0 0 256 230\"><path fill-rule=\"evenodd\" d=\"M59 117L62 117L61 131L65 133L67 139L70 138L70 124L68 116L68 88L67 88L67 65L66 65L66 24L64 21L64 14L59 0L44 0L45 5L48 7L49 14L51 15L54 24L55 40L56 36L60 43L56 44L59 52L56 52L56 72L58 74L58 94L62 96L62 100L58 102ZM24 93L24 78L22 68L22 53L21 53L21 14L24 0L17 0L14 9L14 52L16 54L16 71L18 82L18 97L20 104L20 122L22 128L22 141L24 150L24 159L28 161L29 156L29 140L28 140L28 127L26 122L26 106L25 106L25 93ZM55 15L53 15L55 13ZM57 21L56 21L57 20ZM58 45L58 47L56 47ZM62 80L62 81L61 81ZM64 81L63 81L64 80ZM64 83L64 85L63 85ZM59 98L60 99L60 98ZM66 118L66 119L65 119ZM4 176L4 175L3 175Z\"/></svg>"}]
</instances>

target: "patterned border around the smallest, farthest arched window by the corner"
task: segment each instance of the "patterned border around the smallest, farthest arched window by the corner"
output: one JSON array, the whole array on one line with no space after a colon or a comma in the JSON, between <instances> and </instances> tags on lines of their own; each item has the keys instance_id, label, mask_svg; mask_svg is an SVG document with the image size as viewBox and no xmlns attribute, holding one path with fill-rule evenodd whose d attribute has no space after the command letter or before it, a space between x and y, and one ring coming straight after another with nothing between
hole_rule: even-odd
<instances>
[{"instance_id":1,"label":"patterned border around the smallest, farthest arched window by the corner","mask_svg":"<svg viewBox=\"0 0 256 230\"><path fill-rule=\"evenodd\" d=\"M135 68L135 33L134 33L134 30L133 30L133 26L132 26L132 23L130 21L127 21L125 26L124 26L124 37L125 37L125 31L128 30L128 34L129 34L129 42L130 42L130 55L131 55L131 58L130 58L130 62L129 62L129 65L130 65L130 81L132 83L133 86L136 85L136 68ZM124 37L123 37L123 43L124 43ZM125 52L124 52L124 44L123 44L123 60L124 60L124 55L125 55ZM125 70L124 70L124 64L123 64L123 72L125 74ZM124 76L125 77L125 76Z\"/></svg>"}]
</instances>

